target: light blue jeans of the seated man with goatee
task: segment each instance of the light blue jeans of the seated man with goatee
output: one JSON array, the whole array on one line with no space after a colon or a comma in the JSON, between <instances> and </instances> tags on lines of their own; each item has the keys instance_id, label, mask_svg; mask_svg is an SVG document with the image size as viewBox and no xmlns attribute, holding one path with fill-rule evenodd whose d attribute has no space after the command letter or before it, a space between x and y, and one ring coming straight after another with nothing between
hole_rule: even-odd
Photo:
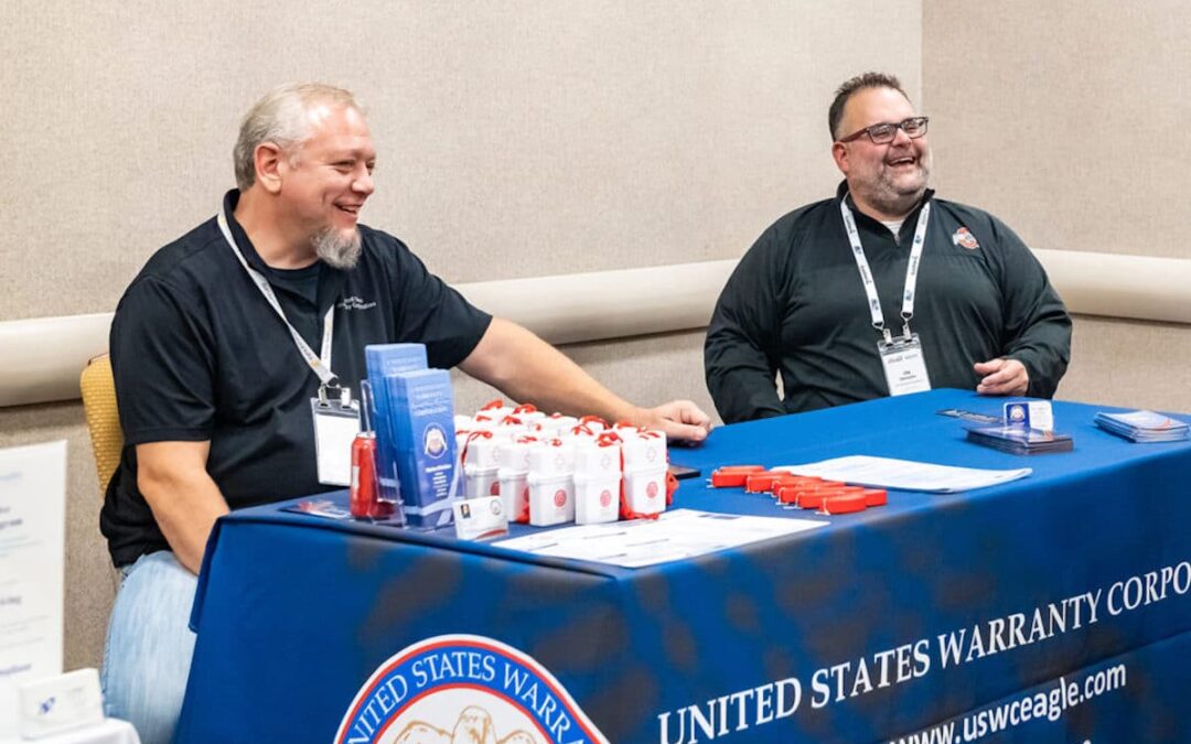
<instances>
[{"instance_id":1,"label":"light blue jeans of the seated man with goatee","mask_svg":"<svg viewBox=\"0 0 1191 744\"><path fill-rule=\"evenodd\" d=\"M104 646L104 708L136 726L143 744L169 744L194 655L198 577L168 550L123 571Z\"/></svg>"}]
</instances>

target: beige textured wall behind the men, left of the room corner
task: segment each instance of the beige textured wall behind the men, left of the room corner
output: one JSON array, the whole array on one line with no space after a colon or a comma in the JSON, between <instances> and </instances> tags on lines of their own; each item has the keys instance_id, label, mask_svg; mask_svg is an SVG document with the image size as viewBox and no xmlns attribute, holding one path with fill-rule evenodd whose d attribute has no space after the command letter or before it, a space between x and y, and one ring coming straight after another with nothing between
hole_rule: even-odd
<instances>
[{"instance_id":1,"label":"beige textured wall behind the men, left of the room corner","mask_svg":"<svg viewBox=\"0 0 1191 744\"><path fill-rule=\"evenodd\" d=\"M0 27L11 320L113 310L214 213L243 111L297 79L364 100L364 220L450 281L737 257L831 193L841 80L883 68L918 92L922 25L921 0L5 0ZM700 333L568 351L630 399L707 404ZM0 445L63 436L74 668L99 663L111 601L82 413L0 409Z\"/></svg>"}]
</instances>

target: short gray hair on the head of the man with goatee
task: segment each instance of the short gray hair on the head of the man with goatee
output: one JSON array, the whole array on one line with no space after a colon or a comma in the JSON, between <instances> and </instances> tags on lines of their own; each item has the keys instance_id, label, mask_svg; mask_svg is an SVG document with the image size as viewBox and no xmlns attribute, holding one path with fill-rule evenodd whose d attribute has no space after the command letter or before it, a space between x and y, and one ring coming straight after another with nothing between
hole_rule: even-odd
<instances>
[{"instance_id":1,"label":"short gray hair on the head of the man with goatee","mask_svg":"<svg viewBox=\"0 0 1191 744\"><path fill-rule=\"evenodd\" d=\"M306 113L314 104L355 108L363 113L350 90L320 82L292 82L274 88L244 114L231 151L236 186L247 190L256 182L256 146L272 142L289 148L310 137Z\"/></svg>"}]
</instances>

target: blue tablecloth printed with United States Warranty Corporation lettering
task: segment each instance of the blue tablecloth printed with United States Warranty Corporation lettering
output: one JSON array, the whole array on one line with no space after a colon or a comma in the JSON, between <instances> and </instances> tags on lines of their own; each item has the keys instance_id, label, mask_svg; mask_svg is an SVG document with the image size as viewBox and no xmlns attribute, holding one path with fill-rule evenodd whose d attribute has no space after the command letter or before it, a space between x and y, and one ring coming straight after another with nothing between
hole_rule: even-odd
<instances>
[{"instance_id":1,"label":"blue tablecloth printed with United States Warranty Corporation lettering","mask_svg":"<svg viewBox=\"0 0 1191 744\"><path fill-rule=\"evenodd\" d=\"M379 665L454 633L536 659L611 742L878 742L936 725L993 736L1025 695L1036 705L1014 705L1000 740L1191 740L1191 444L1131 444L1092 425L1100 408L1055 402L1075 451L1018 457L936 414L1002 402L935 390L674 448L673 462L705 475L842 455L1034 474L961 494L894 490L824 529L638 570L285 505L230 514L200 579L177 740L332 740ZM701 481L684 481L675 507L805 515ZM1052 692L1085 680L1079 699Z\"/></svg>"}]
</instances>

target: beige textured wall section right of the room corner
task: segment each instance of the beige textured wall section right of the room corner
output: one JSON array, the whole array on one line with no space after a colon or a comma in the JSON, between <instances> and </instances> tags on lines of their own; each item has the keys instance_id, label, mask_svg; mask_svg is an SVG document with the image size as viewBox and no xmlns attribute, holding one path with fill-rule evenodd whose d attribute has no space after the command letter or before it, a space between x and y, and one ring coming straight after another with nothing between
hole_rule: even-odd
<instances>
[{"instance_id":1,"label":"beige textured wall section right of the room corner","mask_svg":"<svg viewBox=\"0 0 1191 744\"><path fill-rule=\"evenodd\" d=\"M1028 244L1191 258L1191 4L925 0L940 195ZM1191 327L1077 318L1060 398L1191 411Z\"/></svg>"}]
</instances>

